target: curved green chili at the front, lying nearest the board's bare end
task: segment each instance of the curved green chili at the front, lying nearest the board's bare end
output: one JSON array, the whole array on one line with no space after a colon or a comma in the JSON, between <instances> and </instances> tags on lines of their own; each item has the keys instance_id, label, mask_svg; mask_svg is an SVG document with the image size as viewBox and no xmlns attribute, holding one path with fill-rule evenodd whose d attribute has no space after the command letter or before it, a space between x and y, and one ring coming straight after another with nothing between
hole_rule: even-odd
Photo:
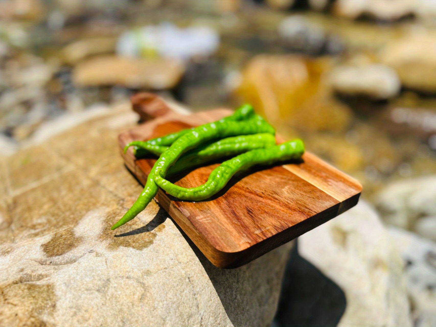
<instances>
[{"instance_id":1,"label":"curved green chili at the front, lying nearest the board's bare end","mask_svg":"<svg viewBox=\"0 0 436 327\"><path fill-rule=\"evenodd\" d=\"M198 187L180 187L159 175L154 176L154 181L168 194L176 198L181 200L201 201L221 191L238 171L247 170L254 165L270 165L277 161L297 159L300 158L303 153L303 141L297 139L267 149L251 150L227 160L211 172L205 184Z\"/></svg>"}]
</instances>

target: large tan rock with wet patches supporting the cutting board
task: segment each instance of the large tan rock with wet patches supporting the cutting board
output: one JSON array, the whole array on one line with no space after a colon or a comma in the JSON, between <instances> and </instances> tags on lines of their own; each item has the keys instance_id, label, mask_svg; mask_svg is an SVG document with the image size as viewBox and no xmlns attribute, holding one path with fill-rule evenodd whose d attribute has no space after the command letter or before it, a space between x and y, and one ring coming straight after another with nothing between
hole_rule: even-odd
<instances>
[{"instance_id":1,"label":"large tan rock with wet patches supporting the cutting board","mask_svg":"<svg viewBox=\"0 0 436 327\"><path fill-rule=\"evenodd\" d=\"M110 231L142 189L117 144L136 120L102 111L0 157L1 326L271 323L291 243L218 269L155 202Z\"/></svg>"}]
</instances>

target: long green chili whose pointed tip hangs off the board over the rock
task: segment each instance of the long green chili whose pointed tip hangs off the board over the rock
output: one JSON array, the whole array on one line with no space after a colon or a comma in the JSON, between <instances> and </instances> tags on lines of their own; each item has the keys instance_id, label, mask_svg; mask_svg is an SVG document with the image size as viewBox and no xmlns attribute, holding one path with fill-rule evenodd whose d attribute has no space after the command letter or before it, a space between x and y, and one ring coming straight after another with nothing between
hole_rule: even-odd
<instances>
[{"instance_id":1,"label":"long green chili whose pointed tip hangs off the board over the rock","mask_svg":"<svg viewBox=\"0 0 436 327\"><path fill-rule=\"evenodd\" d=\"M165 177L169 167L173 165L182 154L213 140L230 136L257 133L275 134L275 130L272 126L266 123L262 117L257 115L254 115L251 119L242 121L220 119L214 123L208 123L193 129L188 129L184 135L180 136L171 144L168 150L160 155L150 171L143 192L129 211L126 212L123 218L117 221L111 229L114 230L115 228L124 225L146 208L147 204L149 204L156 196L159 189L157 184L154 182L154 177Z\"/></svg>"}]
</instances>

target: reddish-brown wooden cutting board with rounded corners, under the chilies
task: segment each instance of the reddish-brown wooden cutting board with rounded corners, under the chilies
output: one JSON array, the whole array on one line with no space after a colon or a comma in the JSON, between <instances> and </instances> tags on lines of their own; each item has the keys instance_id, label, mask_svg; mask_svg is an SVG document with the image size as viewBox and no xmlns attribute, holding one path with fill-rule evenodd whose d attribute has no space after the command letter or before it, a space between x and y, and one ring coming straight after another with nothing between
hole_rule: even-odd
<instances>
[{"instance_id":1,"label":"reddish-brown wooden cutting board with rounded corners, under the chilies","mask_svg":"<svg viewBox=\"0 0 436 327\"><path fill-rule=\"evenodd\" d=\"M163 136L231 114L228 109L215 109L184 115L151 93L135 95L132 102L146 122L119 135L120 149L133 140ZM123 158L145 184L155 160L136 160L132 148ZM183 187L198 186L217 166L195 169L174 181ZM353 207L361 190L358 181L307 152L302 162L239 175L208 201L177 201L162 190L155 199L215 266L236 268Z\"/></svg>"}]
</instances>

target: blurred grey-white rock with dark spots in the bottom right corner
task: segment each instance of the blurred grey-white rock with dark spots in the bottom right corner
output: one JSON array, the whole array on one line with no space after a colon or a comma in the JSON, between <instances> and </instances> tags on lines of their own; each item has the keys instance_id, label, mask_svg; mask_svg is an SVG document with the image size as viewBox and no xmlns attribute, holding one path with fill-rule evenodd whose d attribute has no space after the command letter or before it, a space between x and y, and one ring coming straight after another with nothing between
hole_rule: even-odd
<instances>
[{"instance_id":1,"label":"blurred grey-white rock with dark spots in the bottom right corner","mask_svg":"<svg viewBox=\"0 0 436 327\"><path fill-rule=\"evenodd\" d=\"M389 230L405 267L406 285L417 327L436 326L436 243L401 229Z\"/></svg>"}]
</instances>

